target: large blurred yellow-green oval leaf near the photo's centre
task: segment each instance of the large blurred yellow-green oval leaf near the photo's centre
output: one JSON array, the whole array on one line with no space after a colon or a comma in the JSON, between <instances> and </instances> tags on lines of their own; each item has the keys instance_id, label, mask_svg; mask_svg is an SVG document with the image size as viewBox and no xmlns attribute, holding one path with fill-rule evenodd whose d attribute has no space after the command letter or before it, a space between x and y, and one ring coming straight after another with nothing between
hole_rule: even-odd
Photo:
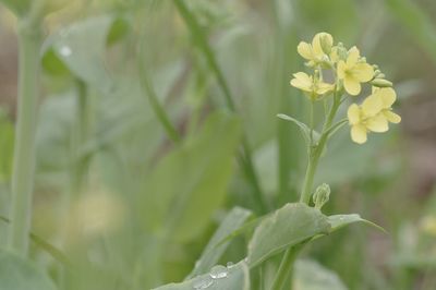
<instances>
[{"instance_id":1,"label":"large blurred yellow-green oval leaf near the photo's centre","mask_svg":"<svg viewBox=\"0 0 436 290\"><path fill-rule=\"evenodd\" d=\"M138 197L147 230L166 230L178 241L203 230L226 195L239 136L239 120L216 113L196 136L162 158Z\"/></svg>"}]
</instances>

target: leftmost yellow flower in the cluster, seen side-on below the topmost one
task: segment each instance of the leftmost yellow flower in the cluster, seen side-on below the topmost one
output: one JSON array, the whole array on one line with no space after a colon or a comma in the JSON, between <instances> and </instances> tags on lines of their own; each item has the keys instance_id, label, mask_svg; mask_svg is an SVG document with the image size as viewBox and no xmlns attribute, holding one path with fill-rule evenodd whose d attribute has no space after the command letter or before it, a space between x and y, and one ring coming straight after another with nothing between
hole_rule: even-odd
<instances>
[{"instance_id":1,"label":"leftmost yellow flower in the cluster, seen side-on below the topmost one","mask_svg":"<svg viewBox=\"0 0 436 290\"><path fill-rule=\"evenodd\" d=\"M312 99L316 99L334 89L334 85L324 83L312 75L304 72L293 74L294 78L291 80L291 85L303 90Z\"/></svg>"}]
</instances>

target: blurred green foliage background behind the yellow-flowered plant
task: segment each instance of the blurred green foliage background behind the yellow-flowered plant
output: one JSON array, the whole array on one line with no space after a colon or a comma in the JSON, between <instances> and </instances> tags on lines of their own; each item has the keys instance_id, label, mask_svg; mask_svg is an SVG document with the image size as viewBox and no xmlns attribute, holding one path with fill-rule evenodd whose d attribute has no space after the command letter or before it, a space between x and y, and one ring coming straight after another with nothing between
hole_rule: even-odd
<instances>
[{"instance_id":1,"label":"blurred green foliage background behind the yellow-flowered plant","mask_svg":"<svg viewBox=\"0 0 436 290\"><path fill-rule=\"evenodd\" d=\"M185 2L198 31L169 0L77 0L47 17L33 232L62 249L80 278L37 246L33 257L61 289L149 289L182 280L232 207L262 215L296 201L304 143L276 114L306 120L304 97L289 86L303 69L296 45L328 32L395 83L402 122L363 146L344 130L316 177L332 188L326 213L359 213L388 234L353 226L305 254L349 289L436 289L436 2ZM8 216L17 45L4 8L0 44L0 212ZM238 162L243 143L257 188ZM244 239L223 263L244 257Z\"/></svg>"}]
</instances>

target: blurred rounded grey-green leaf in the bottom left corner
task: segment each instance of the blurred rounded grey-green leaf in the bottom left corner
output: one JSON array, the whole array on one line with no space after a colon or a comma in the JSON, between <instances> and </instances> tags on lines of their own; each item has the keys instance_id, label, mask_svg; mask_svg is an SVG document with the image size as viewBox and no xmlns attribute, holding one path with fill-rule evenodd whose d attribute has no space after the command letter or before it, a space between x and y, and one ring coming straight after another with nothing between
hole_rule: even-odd
<instances>
[{"instance_id":1,"label":"blurred rounded grey-green leaf in the bottom left corner","mask_svg":"<svg viewBox=\"0 0 436 290\"><path fill-rule=\"evenodd\" d=\"M55 290L53 282L32 262L0 251L0 289Z\"/></svg>"}]
</instances>

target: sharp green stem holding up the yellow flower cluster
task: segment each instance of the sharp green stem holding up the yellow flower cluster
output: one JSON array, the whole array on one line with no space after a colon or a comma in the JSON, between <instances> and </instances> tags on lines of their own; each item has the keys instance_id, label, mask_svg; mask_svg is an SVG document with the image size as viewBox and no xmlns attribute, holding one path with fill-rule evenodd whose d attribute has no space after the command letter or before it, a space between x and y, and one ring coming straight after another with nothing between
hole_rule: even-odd
<instances>
[{"instance_id":1,"label":"sharp green stem holding up the yellow flower cluster","mask_svg":"<svg viewBox=\"0 0 436 290\"><path fill-rule=\"evenodd\" d=\"M307 205L311 201L312 186L313 186L313 181L315 178L316 169L318 167L318 161L319 161L320 156L323 155L324 148L325 148L326 143L329 137L328 130L331 126L331 123L335 119L336 112L338 111L338 108L340 105L340 97L338 97L338 95L339 94L337 94L335 90L334 101L330 107L330 111L326 118L326 121L324 122L324 126L323 126L323 131L322 131L318 144L315 146L311 146L311 148L308 150L310 152L308 164L307 164L307 168L306 168L306 174L304 178L303 189L302 189L301 196L300 196L300 202L307 204ZM292 269L292 266L296 258L296 255L299 254L299 252L303 245L304 245L304 242L300 245L290 247L286 251L284 256L281 261L279 270L272 282L271 290L281 290L283 288L283 285L284 285L287 278L289 277L290 270Z\"/></svg>"}]
</instances>

